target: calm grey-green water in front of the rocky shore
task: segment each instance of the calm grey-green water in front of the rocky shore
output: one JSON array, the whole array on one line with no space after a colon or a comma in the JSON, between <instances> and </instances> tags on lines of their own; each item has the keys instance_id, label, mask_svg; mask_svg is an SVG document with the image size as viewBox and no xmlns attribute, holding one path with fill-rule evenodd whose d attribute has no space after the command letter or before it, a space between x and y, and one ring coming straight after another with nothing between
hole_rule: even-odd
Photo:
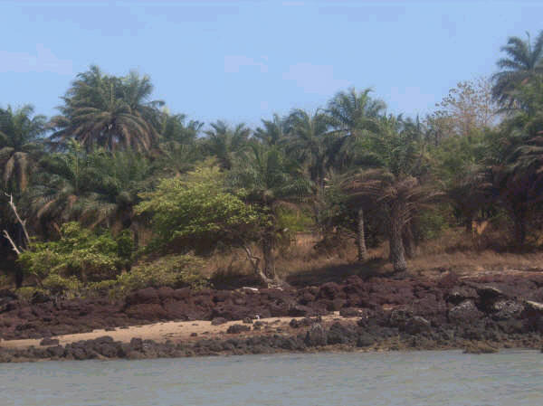
<instances>
[{"instance_id":1,"label":"calm grey-green water in front of the rocky shore","mask_svg":"<svg viewBox=\"0 0 543 406\"><path fill-rule=\"evenodd\" d=\"M543 405L543 354L280 354L0 364L2 406Z\"/></svg>"}]
</instances>

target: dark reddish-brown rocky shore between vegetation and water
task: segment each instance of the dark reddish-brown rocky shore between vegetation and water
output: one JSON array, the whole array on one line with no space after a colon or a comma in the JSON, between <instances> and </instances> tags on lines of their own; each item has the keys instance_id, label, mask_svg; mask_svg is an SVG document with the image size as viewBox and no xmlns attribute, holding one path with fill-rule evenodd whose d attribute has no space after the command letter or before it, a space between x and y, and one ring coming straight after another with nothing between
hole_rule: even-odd
<instances>
[{"instance_id":1,"label":"dark reddish-brown rocky shore between vegetation and water","mask_svg":"<svg viewBox=\"0 0 543 406\"><path fill-rule=\"evenodd\" d=\"M168 321L207 320L224 329L127 339L57 336ZM231 322L236 320L236 322ZM210 323L211 321L211 323ZM195 323L194 325L197 325ZM198 327L202 328L202 327ZM194 330L196 331L196 330ZM113 334L111 334L113 335ZM291 289L147 288L122 302L0 292L0 361L184 357L278 352L541 348L543 274L460 279L361 279ZM38 338L39 345L10 345Z\"/></svg>"}]
</instances>

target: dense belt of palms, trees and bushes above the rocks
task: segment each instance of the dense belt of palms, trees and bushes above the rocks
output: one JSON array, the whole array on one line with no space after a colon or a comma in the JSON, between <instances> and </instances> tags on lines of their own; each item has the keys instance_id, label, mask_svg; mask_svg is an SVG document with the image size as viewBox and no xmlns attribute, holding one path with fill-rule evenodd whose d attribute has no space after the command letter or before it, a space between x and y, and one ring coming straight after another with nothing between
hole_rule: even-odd
<instances>
[{"instance_id":1,"label":"dense belt of palms, trees and bushes above the rocks","mask_svg":"<svg viewBox=\"0 0 543 406\"><path fill-rule=\"evenodd\" d=\"M172 114L148 76L92 66L59 116L0 109L1 269L54 295L197 288L206 258L239 250L272 285L295 231L327 252L354 240L361 262L387 240L403 272L421 241L481 222L510 227L496 249L538 249L543 33L502 52L425 118L350 89L255 129Z\"/></svg>"}]
</instances>

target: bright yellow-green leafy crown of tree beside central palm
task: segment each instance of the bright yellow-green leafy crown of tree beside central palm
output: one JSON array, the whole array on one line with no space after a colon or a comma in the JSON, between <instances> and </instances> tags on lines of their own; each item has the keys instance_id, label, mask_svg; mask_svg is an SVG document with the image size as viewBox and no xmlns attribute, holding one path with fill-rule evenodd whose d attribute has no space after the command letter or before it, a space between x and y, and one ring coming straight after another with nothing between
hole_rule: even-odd
<instances>
[{"instance_id":1,"label":"bright yellow-green leafy crown of tree beside central palm","mask_svg":"<svg viewBox=\"0 0 543 406\"><path fill-rule=\"evenodd\" d=\"M211 250L218 244L251 241L262 214L224 190L224 175L214 167L164 179L157 190L141 194L139 214L148 213L155 248L185 252Z\"/></svg>"}]
</instances>

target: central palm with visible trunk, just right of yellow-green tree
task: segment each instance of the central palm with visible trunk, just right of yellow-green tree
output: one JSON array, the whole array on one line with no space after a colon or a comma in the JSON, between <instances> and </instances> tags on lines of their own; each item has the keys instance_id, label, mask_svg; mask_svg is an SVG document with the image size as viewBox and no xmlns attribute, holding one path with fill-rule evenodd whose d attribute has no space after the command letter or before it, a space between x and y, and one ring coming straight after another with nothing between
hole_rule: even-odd
<instances>
[{"instance_id":1,"label":"central palm with visible trunk, just right of yellow-green tree","mask_svg":"<svg viewBox=\"0 0 543 406\"><path fill-rule=\"evenodd\" d=\"M247 202L260 207L267 216L261 236L263 277L269 284L277 283L274 250L282 232L277 222L278 209L300 203L310 194L311 184L300 165L284 156L281 149L258 144L252 144L243 159L236 161L229 184L242 189Z\"/></svg>"}]
</instances>

